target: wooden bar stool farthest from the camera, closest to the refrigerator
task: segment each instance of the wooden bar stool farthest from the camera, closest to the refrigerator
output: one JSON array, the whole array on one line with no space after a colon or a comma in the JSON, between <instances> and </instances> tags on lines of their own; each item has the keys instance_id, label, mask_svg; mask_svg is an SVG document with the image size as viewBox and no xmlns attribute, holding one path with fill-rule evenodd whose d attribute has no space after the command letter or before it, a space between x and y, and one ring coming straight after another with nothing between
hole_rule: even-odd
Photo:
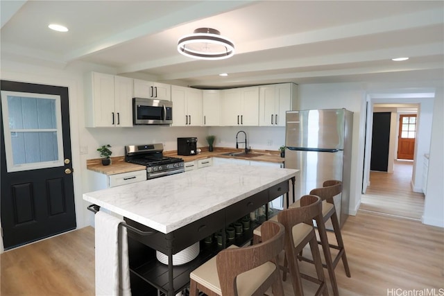
<instances>
[{"instance_id":1,"label":"wooden bar stool farthest from the camera, closest to the refrigerator","mask_svg":"<svg viewBox=\"0 0 444 296\"><path fill-rule=\"evenodd\" d=\"M336 268L336 265L338 265L338 262L341 258L345 269L345 275L347 275L347 277L350 277L350 268L348 267L347 256L345 255L345 248L341 235L341 227L339 227L339 220L336 214L336 208L334 207L334 201L333 201L334 196L341 193L341 191L342 191L342 182L338 180L327 180L323 182L323 187L316 188L310 191L311 195L319 196L319 198L323 200L322 218L316 220L318 234L320 238L318 244L322 245L323 247L323 253L325 256L325 264L323 264L323 267L327 268L328 275L330 277L330 282L332 284L333 294L335 296L339 295L339 289L336 284L336 275L334 274L334 268ZM300 200L297 200L296 202L294 202L289 206L289 208L297 208L297 207L300 207ZM327 229L325 228L325 223L329 219L332 220L332 225L334 229L334 234L336 236L337 245L332 245L328 242ZM339 250L339 253L335 256L334 260L332 260L330 248ZM312 260L307 259L306 257L303 256L300 256L300 259L313 263Z\"/></svg>"}]
</instances>

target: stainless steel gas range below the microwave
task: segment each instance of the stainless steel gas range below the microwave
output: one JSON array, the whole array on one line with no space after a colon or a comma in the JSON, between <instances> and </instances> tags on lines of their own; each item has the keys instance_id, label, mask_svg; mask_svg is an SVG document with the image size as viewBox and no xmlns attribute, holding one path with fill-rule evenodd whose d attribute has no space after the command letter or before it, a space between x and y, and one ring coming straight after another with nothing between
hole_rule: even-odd
<instances>
[{"instance_id":1,"label":"stainless steel gas range below the microwave","mask_svg":"<svg viewBox=\"0 0 444 296\"><path fill-rule=\"evenodd\" d=\"M125 146L125 161L146 166L146 178L185 172L183 159L164 157L162 143Z\"/></svg>"}]
</instances>

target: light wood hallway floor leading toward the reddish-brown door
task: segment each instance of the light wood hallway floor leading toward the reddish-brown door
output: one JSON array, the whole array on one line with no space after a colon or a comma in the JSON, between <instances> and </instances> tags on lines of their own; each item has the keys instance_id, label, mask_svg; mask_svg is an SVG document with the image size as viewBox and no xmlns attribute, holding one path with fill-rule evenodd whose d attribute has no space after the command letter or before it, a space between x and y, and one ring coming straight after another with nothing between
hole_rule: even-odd
<instances>
[{"instance_id":1,"label":"light wood hallway floor leading toward the reddish-brown door","mask_svg":"<svg viewBox=\"0 0 444 296\"><path fill-rule=\"evenodd\" d=\"M393 173L370 172L359 210L421 220L424 194L411 190L412 169L413 162L395 160Z\"/></svg>"}]
</instances>

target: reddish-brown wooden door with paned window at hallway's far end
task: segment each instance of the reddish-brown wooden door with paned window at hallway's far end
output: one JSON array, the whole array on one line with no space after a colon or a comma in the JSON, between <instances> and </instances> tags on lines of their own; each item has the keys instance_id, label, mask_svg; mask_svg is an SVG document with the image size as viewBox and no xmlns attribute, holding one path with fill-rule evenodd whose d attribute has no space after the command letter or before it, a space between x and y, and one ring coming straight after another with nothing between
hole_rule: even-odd
<instances>
[{"instance_id":1,"label":"reddish-brown wooden door with paned window at hallway's far end","mask_svg":"<svg viewBox=\"0 0 444 296\"><path fill-rule=\"evenodd\" d=\"M416 114L400 115L398 159L413 159L415 153Z\"/></svg>"}]
</instances>

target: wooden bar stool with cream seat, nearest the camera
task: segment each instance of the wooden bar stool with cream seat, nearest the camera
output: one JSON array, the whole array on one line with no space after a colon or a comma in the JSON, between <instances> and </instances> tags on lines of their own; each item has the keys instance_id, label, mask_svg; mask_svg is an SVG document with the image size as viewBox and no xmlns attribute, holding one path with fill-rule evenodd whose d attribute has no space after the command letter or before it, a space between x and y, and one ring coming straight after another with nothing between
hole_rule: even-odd
<instances>
[{"instance_id":1,"label":"wooden bar stool with cream seat, nearest the camera","mask_svg":"<svg viewBox=\"0 0 444 296\"><path fill-rule=\"evenodd\" d=\"M278 254L284 249L284 226L274 221L262 224L263 242L248 247L234 245L191 272L190 295L264 295L271 286L273 295L283 296L284 288Z\"/></svg>"}]
</instances>

